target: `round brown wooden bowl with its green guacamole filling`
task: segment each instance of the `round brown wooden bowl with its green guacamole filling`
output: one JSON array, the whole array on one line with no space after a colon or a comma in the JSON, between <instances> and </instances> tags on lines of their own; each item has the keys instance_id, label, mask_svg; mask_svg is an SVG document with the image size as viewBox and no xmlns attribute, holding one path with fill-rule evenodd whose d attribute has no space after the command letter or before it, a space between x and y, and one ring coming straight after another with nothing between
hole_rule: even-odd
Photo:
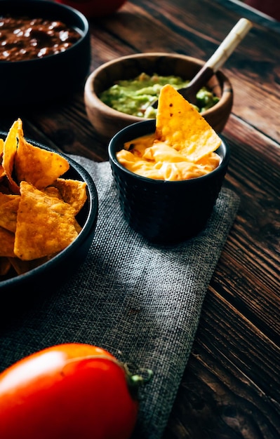
<instances>
[{"instance_id":1,"label":"round brown wooden bowl with its green guacamole filling","mask_svg":"<svg viewBox=\"0 0 280 439\"><path fill-rule=\"evenodd\" d=\"M89 121L106 140L131 123L155 119L151 103L165 83L181 88L204 65L203 60L176 53L138 53L106 62L86 81L84 102ZM198 96L196 96L198 97ZM199 111L220 133L232 111L232 85L218 71L199 90Z\"/></svg>"}]
</instances>

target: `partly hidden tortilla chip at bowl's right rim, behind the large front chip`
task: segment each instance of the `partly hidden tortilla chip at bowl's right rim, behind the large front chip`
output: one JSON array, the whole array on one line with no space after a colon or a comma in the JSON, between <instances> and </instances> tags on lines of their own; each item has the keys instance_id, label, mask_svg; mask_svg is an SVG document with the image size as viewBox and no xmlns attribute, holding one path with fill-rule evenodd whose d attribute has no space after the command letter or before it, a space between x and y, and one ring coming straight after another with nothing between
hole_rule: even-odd
<instances>
[{"instance_id":1,"label":"partly hidden tortilla chip at bowl's right rim, behind the large front chip","mask_svg":"<svg viewBox=\"0 0 280 439\"><path fill-rule=\"evenodd\" d=\"M81 210L84 203L86 203L86 183L80 182L79 180L65 180L63 178L58 178L53 183L62 196L65 203L72 205L75 209L76 214Z\"/></svg>"}]
</instances>

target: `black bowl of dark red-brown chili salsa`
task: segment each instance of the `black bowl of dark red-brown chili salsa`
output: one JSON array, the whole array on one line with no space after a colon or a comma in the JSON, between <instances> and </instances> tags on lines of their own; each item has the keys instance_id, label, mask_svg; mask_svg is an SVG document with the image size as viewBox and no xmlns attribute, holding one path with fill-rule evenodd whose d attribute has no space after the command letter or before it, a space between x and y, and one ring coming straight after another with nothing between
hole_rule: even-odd
<instances>
[{"instance_id":1,"label":"black bowl of dark red-brown chili salsa","mask_svg":"<svg viewBox=\"0 0 280 439\"><path fill-rule=\"evenodd\" d=\"M84 85L91 65L86 17L48 0L0 0L0 100L38 109Z\"/></svg>"}]
</instances>

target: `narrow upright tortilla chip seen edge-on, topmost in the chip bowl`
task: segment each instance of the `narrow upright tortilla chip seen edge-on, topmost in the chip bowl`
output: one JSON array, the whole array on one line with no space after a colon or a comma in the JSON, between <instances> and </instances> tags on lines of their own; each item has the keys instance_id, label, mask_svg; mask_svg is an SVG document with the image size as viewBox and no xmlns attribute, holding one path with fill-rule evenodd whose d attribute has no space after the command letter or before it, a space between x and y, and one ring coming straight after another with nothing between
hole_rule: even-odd
<instances>
[{"instance_id":1,"label":"narrow upright tortilla chip seen edge-on, topmost in the chip bowl","mask_svg":"<svg viewBox=\"0 0 280 439\"><path fill-rule=\"evenodd\" d=\"M22 133L22 121L20 119L15 121L11 126L3 147L2 166L4 168L6 176L8 177L9 186L11 187L11 190L14 194L20 193L20 187L15 182L15 180L13 180L13 168L15 162L15 154L17 153L18 148L19 133Z\"/></svg>"}]
</instances>

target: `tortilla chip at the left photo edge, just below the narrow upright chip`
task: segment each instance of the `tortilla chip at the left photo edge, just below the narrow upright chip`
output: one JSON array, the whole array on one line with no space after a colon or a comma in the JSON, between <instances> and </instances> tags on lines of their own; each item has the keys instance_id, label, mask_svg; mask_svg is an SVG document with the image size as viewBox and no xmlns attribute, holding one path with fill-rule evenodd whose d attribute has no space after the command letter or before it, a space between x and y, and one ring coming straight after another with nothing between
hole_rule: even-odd
<instances>
[{"instance_id":1,"label":"tortilla chip at the left photo edge, just below the narrow upright chip","mask_svg":"<svg viewBox=\"0 0 280 439\"><path fill-rule=\"evenodd\" d=\"M19 195L6 195L0 192L0 226L15 233Z\"/></svg>"}]
</instances>

